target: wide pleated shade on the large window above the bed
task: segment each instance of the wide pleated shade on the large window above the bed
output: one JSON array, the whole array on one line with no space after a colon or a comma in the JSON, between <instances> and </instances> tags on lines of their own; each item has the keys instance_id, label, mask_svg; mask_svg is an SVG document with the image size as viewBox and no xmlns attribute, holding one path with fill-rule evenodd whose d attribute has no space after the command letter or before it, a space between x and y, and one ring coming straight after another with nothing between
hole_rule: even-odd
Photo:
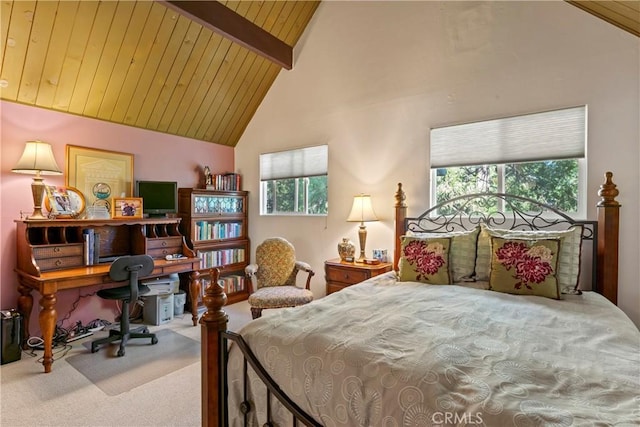
<instances>
[{"instance_id":1,"label":"wide pleated shade on the large window above the bed","mask_svg":"<svg viewBox=\"0 0 640 427\"><path fill-rule=\"evenodd\" d=\"M586 106L431 130L431 167L585 156Z\"/></svg>"}]
</instances>

